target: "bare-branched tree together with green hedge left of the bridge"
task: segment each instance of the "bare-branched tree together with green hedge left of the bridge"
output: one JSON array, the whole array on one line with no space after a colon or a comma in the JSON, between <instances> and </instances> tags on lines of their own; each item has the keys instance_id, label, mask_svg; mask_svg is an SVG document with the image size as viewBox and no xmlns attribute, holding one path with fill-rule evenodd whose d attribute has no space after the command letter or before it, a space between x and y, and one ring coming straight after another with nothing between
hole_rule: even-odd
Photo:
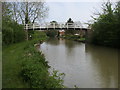
<instances>
[{"instance_id":1,"label":"bare-branched tree together with green hedge left of the bridge","mask_svg":"<svg viewBox=\"0 0 120 90\"><path fill-rule=\"evenodd\" d=\"M45 2L2 2L3 45L28 40L24 25L41 21L47 11Z\"/></svg>"}]
</instances>

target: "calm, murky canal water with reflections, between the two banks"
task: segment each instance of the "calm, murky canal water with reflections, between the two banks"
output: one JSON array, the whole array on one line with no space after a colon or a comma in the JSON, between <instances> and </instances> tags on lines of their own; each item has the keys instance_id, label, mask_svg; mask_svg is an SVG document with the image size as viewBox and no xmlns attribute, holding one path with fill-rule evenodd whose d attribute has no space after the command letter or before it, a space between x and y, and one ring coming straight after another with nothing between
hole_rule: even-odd
<instances>
[{"instance_id":1,"label":"calm, murky canal water with reflections, between the two banks","mask_svg":"<svg viewBox=\"0 0 120 90\"><path fill-rule=\"evenodd\" d=\"M49 65L65 73L64 85L73 88L117 88L117 49L65 39L50 39L40 45Z\"/></svg>"}]
</instances>

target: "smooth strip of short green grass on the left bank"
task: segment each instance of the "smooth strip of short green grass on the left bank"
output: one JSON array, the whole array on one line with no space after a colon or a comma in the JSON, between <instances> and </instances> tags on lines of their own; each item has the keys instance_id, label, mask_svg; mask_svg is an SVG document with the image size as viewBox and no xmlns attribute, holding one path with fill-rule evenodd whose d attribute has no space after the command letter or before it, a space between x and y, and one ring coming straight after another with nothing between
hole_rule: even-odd
<instances>
[{"instance_id":1,"label":"smooth strip of short green grass on the left bank","mask_svg":"<svg viewBox=\"0 0 120 90\"><path fill-rule=\"evenodd\" d=\"M3 88L25 88L28 87L23 82L20 72L20 56L24 51L26 42L13 44L3 48L2 52L2 87Z\"/></svg>"}]
</instances>

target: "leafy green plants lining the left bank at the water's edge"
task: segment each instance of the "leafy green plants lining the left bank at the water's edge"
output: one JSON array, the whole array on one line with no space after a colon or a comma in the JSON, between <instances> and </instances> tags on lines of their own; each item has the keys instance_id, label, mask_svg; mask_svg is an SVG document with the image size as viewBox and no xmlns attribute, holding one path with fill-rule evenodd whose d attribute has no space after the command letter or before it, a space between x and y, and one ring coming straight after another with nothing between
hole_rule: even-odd
<instances>
[{"instance_id":1,"label":"leafy green plants lining the left bank at the water's edge","mask_svg":"<svg viewBox=\"0 0 120 90\"><path fill-rule=\"evenodd\" d=\"M41 34L44 37L45 34ZM38 38L38 32L33 37ZM44 55L34 47L34 39L24 48L22 56L21 75L25 82L29 83L31 88L62 88L64 74L58 74L53 70L52 74L48 72L49 65L45 61ZM42 39L42 37L41 37ZM36 40L36 39L35 39ZM39 39L40 40L40 39Z\"/></svg>"}]
</instances>

